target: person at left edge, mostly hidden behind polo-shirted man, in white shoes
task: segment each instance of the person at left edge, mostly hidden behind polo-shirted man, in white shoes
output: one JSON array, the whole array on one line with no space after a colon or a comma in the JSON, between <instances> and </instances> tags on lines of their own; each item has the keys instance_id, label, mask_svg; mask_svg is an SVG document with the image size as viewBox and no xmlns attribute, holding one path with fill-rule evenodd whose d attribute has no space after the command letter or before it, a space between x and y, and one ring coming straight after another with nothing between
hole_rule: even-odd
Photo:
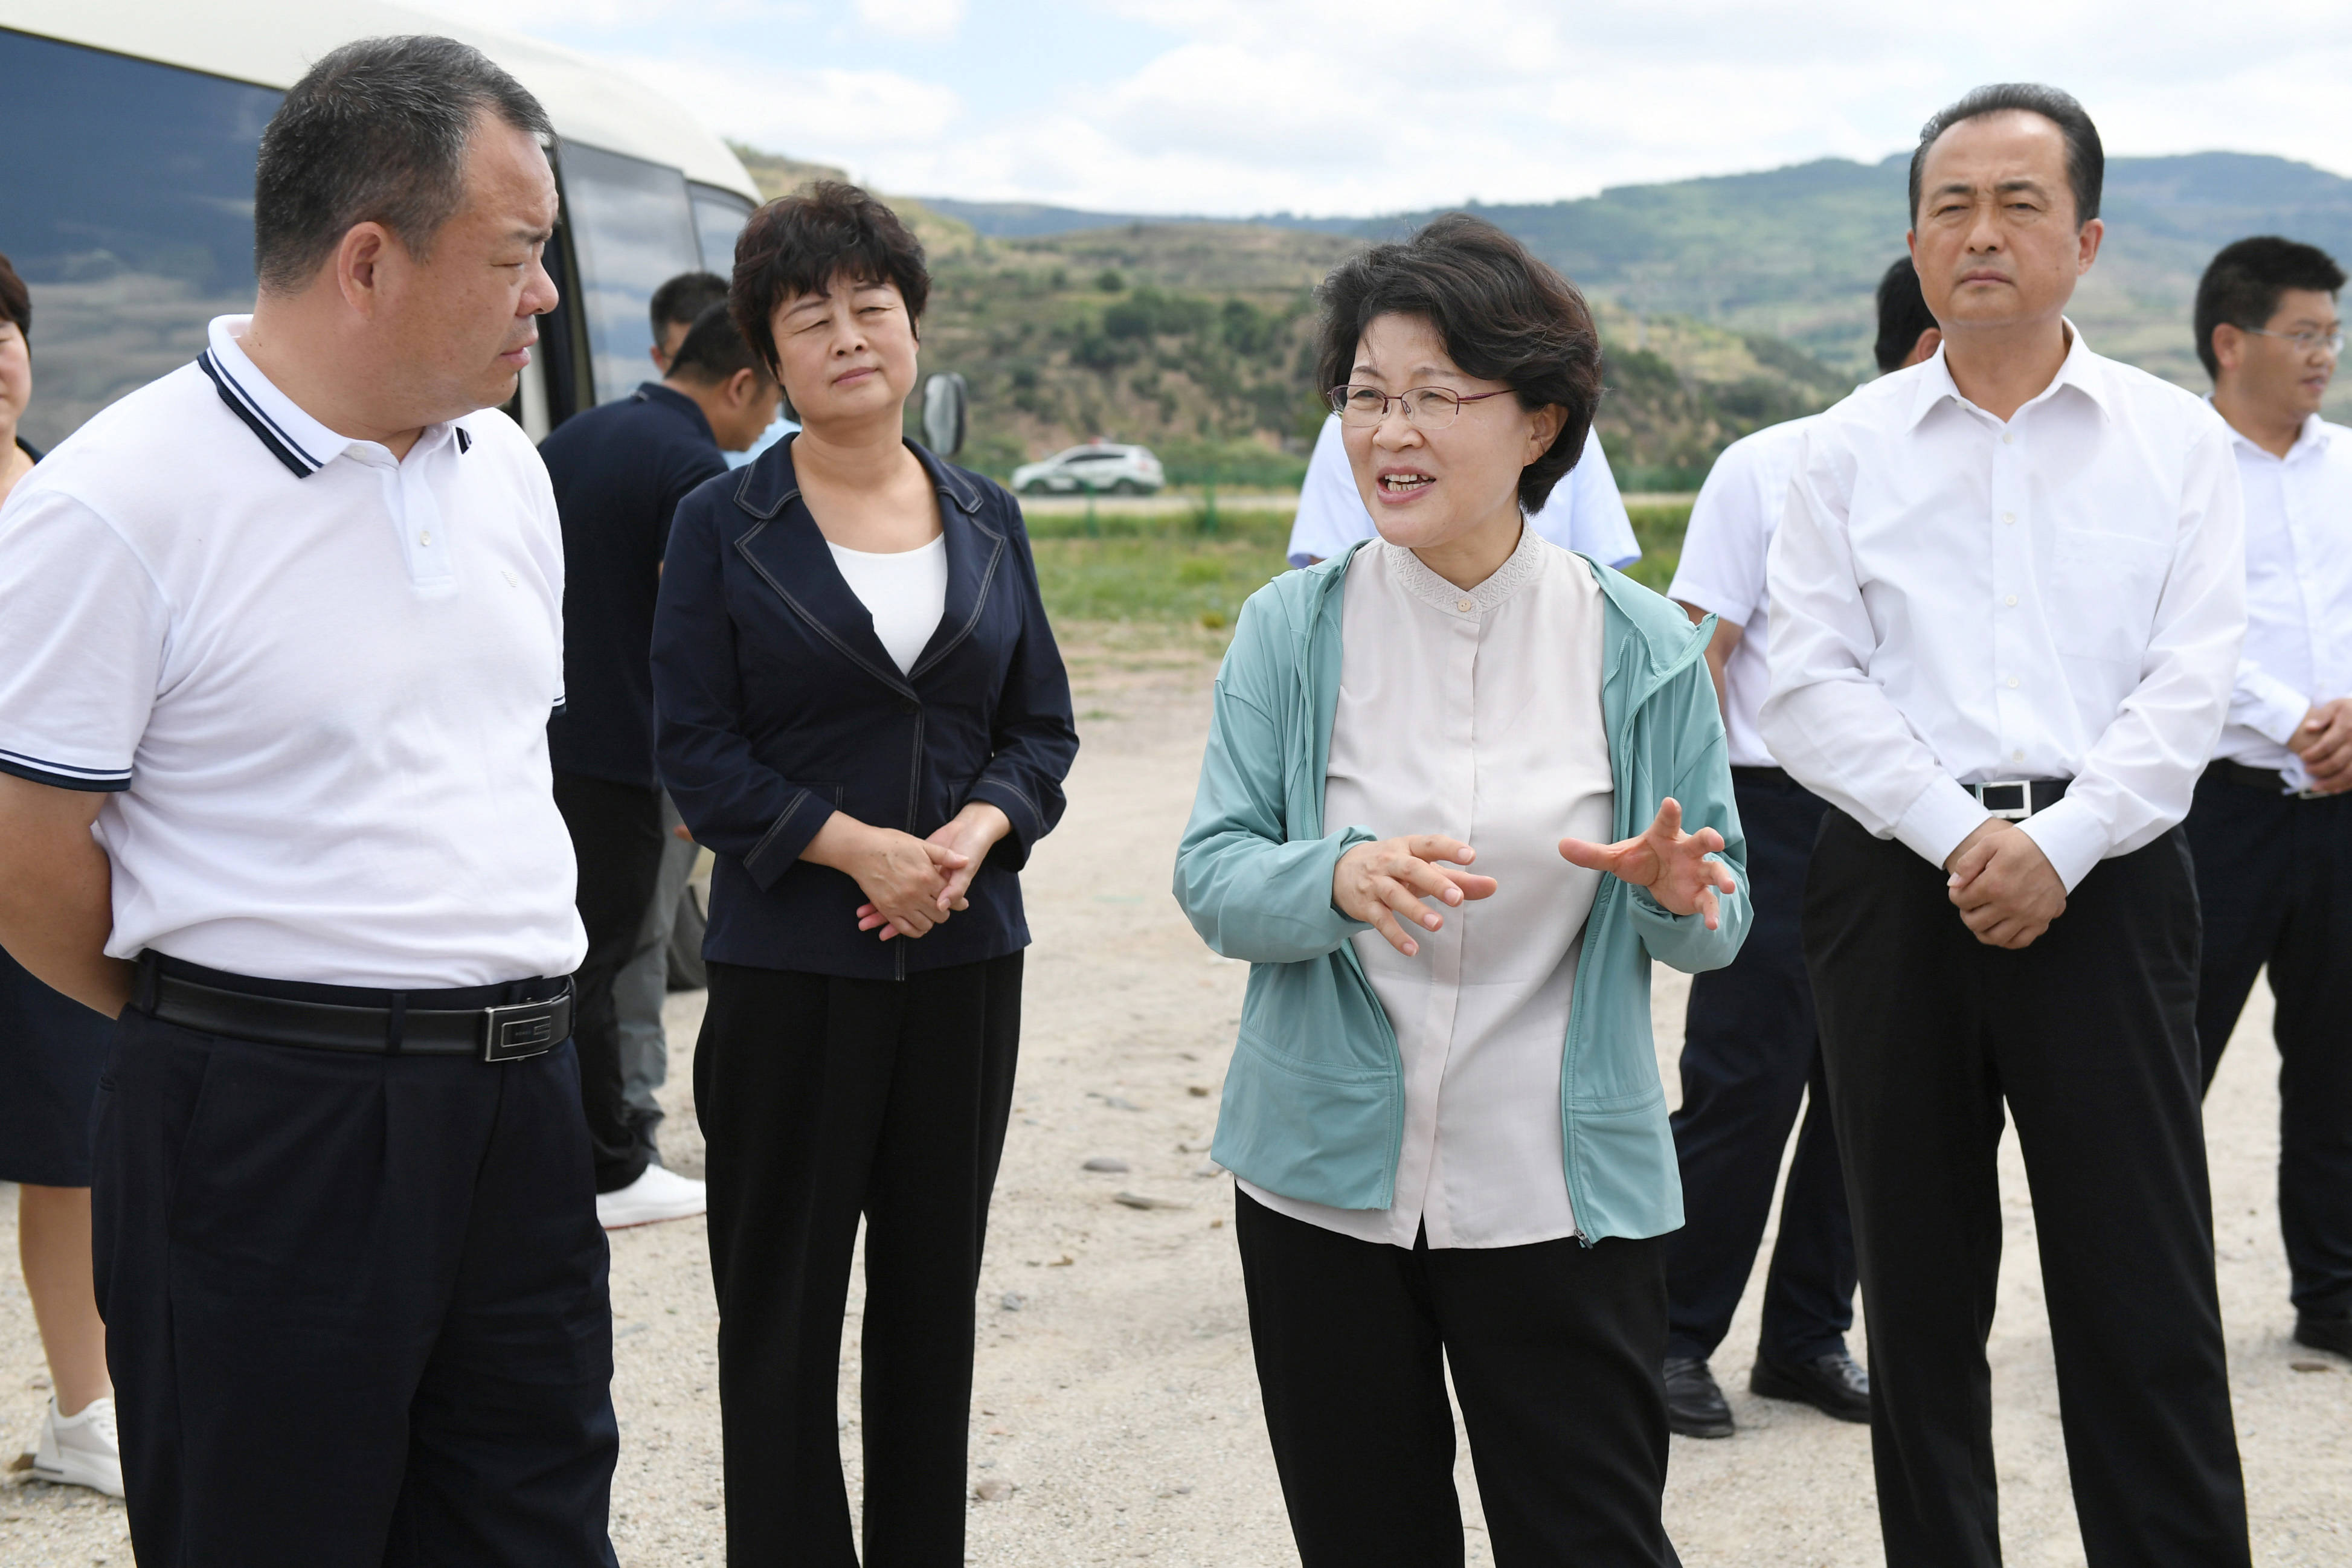
<instances>
[{"instance_id":1,"label":"person at left edge, mostly hidden behind polo-shirted man, in white shoes","mask_svg":"<svg viewBox=\"0 0 2352 1568\"><path fill-rule=\"evenodd\" d=\"M33 400L33 296L0 256L0 508L40 454L16 423ZM0 752L0 769L9 769ZM49 1356L33 1441L42 1481L122 1495L115 1385L89 1272L89 1112L113 1023L0 952L0 1180L16 1182L16 1255Z\"/></svg>"}]
</instances>

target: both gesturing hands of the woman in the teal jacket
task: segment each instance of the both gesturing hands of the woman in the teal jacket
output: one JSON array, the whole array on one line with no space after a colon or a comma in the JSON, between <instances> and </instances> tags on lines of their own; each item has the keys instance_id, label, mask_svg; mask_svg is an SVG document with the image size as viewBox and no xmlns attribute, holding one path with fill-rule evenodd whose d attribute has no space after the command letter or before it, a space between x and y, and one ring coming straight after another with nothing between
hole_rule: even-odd
<instances>
[{"instance_id":1,"label":"both gesturing hands of the woman in the teal jacket","mask_svg":"<svg viewBox=\"0 0 2352 1568\"><path fill-rule=\"evenodd\" d=\"M1639 837L1618 844L1559 839L1559 858L1649 889L1670 914L1703 914L1708 931L1715 931L1722 924L1717 898L1738 889L1729 865L1708 860L1722 846L1724 835L1712 827L1682 832L1682 804L1668 797ZM1357 844L1331 867L1331 907L1369 924L1390 947L1414 957L1421 943L1402 922L1409 919L1425 931L1442 931L1446 924L1423 898L1451 910L1465 898L1494 896L1494 877L1461 870L1475 858L1477 851L1461 839L1435 832Z\"/></svg>"}]
</instances>

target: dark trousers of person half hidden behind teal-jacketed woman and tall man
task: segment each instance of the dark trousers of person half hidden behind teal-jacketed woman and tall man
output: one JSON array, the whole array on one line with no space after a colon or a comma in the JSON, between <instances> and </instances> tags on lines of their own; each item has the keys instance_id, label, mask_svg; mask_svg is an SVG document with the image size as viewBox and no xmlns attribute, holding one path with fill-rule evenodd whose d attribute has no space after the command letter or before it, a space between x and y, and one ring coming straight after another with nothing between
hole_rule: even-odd
<instances>
[{"instance_id":1,"label":"dark trousers of person half hidden behind teal-jacketed woman and tall man","mask_svg":"<svg viewBox=\"0 0 2352 1568\"><path fill-rule=\"evenodd\" d=\"M1665 1354L1703 1361L1731 1333L1802 1107L1759 1345L1795 1366L1844 1349L1853 1328L1853 1225L1799 919L1804 867L1830 806L1780 769L1731 773L1752 924L1726 969L1691 978L1675 1112L1684 1225L1665 1244Z\"/></svg>"}]
</instances>

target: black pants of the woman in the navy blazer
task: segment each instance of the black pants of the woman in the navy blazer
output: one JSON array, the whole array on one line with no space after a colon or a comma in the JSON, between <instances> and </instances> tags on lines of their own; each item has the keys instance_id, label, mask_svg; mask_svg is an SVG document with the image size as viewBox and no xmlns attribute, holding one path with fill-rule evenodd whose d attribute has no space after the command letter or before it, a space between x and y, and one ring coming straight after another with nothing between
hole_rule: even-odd
<instances>
[{"instance_id":1,"label":"black pants of the woman in the navy blazer","mask_svg":"<svg viewBox=\"0 0 2352 1568\"><path fill-rule=\"evenodd\" d=\"M866 1568L962 1561L971 1298L1018 1044L1018 952L906 980L710 964L694 1105L729 1563L858 1563L835 1389L861 1213Z\"/></svg>"}]
</instances>

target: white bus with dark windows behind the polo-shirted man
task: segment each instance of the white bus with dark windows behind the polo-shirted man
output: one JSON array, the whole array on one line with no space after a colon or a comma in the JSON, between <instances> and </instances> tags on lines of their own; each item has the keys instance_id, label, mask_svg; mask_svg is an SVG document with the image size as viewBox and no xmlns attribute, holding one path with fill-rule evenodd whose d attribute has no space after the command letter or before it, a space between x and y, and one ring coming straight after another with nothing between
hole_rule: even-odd
<instances>
[{"instance_id":1,"label":"white bus with dark windows behind the polo-shirted man","mask_svg":"<svg viewBox=\"0 0 2352 1568\"><path fill-rule=\"evenodd\" d=\"M654 374L647 303L734 266L760 200L727 143L661 94L553 45L369 0L0 0L0 254L33 292L33 407L54 447L186 364L254 301L254 155L310 61L442 33L555 122L562 306L510 409L532 440Z\"/></svg>"}]
</instances>

